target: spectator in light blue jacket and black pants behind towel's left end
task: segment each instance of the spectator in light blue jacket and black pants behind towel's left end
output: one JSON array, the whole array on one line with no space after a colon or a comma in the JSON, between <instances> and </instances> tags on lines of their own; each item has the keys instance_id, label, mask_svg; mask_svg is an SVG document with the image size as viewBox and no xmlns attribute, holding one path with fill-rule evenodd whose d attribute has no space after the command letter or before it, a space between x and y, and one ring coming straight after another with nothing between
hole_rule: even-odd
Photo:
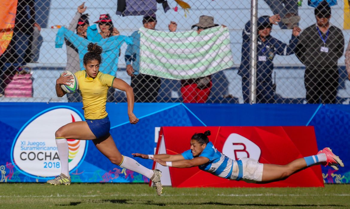
<instances>
[{"instance_id":1,"label":"spectator in light blue jacket and black pants behind towel's left end","mask_svg":"<svg viewBox=\"0 0 350 209\"><path fill-rule=\"evenodd\" d=\"M150 30L155 30L156 15L145 15L142 24ZM177 24L169 24L169 30L175 31ZM170 27L171 26L171 27ZM131 87L134 89L135 102L156 102L161 80L159 77L139 73L140 70L140 34L134 31L130 36L133 45L128 45L125 51L126 72L131 77Z\"/></svg>"}]
</instances>

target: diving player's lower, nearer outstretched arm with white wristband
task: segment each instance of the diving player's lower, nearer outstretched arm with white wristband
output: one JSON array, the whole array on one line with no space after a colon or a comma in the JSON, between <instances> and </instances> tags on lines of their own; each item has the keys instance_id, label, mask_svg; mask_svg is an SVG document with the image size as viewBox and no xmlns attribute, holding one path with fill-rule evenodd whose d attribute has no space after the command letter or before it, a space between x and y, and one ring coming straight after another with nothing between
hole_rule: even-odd
<instances>
[{"instance_id":1,"label":"diving player's lower, nearer outstretched arm with white wristband","mask_svg":"<svg viewBox=\"0 0 350 209\"><path fill-rule=\"evenodd\" d=\"M177 160L173 162L164 161L162 159L155 158L155 157L152 159L157 163L161 164L162 166L169 166L169 167L176 167L176 168L196 167L209 162L209 158L206 158L206 157L196 157L191 160Z\"/></svg>"}]
</instances>

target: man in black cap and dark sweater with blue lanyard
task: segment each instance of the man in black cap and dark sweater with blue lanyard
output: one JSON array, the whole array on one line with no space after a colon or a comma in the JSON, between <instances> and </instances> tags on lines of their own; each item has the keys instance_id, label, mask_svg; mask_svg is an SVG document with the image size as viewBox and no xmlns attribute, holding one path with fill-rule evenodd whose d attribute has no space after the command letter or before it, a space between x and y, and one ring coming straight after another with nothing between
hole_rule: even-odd
<instances>
[{"instance_id":1,"label":"man in black cap and dark sweater with blue lanyard","mask_svg":"<svg viewBox=\"0 0 350 209\"><path fill-rule=\"evenodd\" d=\"M315 8L315 17L316 24L301 33L297 45L297 57L305 65L306 100L311 104L336 103L344 35L329 22L331 8L327 1Z\"/></svg>"}]
</instances>

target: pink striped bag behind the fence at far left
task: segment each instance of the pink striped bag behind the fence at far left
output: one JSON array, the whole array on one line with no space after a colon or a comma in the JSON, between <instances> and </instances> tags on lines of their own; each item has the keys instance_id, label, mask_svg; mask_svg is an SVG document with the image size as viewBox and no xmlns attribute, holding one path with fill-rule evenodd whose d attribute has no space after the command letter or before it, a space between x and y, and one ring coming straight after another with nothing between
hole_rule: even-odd
<instances>
[{"instance_id":1,"label":"pink striped bag behind the fence at far left","mask_svg":"<svg viewBox=\"0 0 350 209\"><path fill-rule=\"evenodd\" d=\"M33 80L30 73L18 73L5 88L6 97L32 97Z\"/></svg>"}]
</instances>

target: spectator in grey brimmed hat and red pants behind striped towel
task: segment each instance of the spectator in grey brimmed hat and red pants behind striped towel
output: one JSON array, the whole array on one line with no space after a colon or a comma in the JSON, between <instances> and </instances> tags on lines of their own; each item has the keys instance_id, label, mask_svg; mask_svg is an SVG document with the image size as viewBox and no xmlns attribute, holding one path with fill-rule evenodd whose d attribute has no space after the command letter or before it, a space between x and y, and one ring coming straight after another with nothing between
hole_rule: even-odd
<instances>
[{"instance_id":1,"label":"spectator in grey brimmed hat and red pants behind striped towel","mask_svg":"<svg viewBox=\"0 0 350 209\"><path fill-rule=\"evenodd\" d=\"M196 28L197 33L201 31L219 26L214 23L214 17L202 15L199 17L199 22L194 24L191 28ZM205 103L210 94L212 87L211 76L203 78L181 80L181 94L184 103Z\"/></svg>"}]
</instances>

